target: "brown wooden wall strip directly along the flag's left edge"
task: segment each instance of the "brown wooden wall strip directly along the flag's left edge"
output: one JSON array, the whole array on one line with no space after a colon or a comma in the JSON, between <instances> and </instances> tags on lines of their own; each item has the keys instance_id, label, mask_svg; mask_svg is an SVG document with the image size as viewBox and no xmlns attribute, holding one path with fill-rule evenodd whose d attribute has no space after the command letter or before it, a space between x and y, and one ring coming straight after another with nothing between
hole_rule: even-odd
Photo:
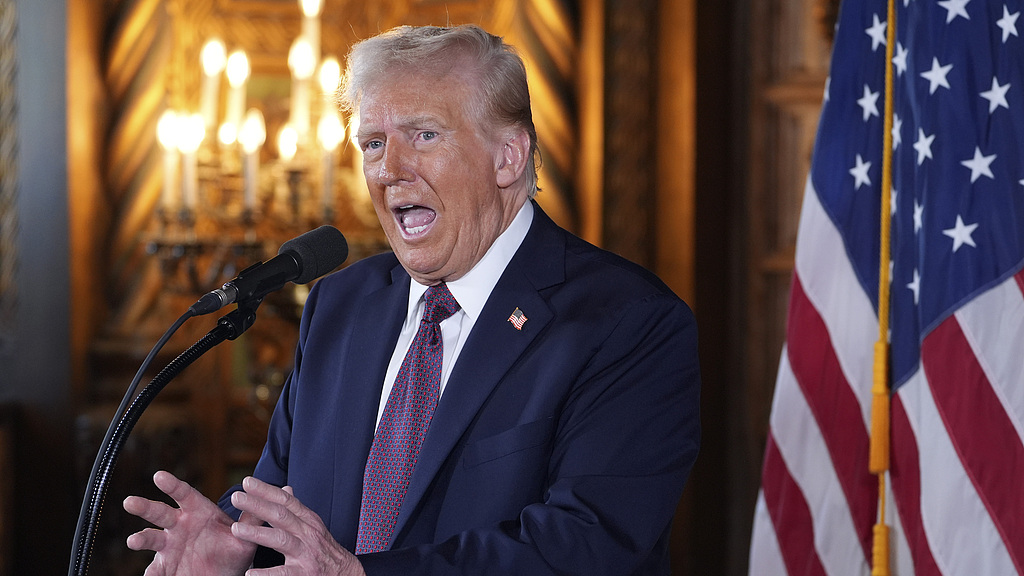
<instances>
[{"instance_id":1,"label":"brown wooden wall strip directly along the flag's left edge","mask_svg":"<svg viewBox=\"0 0 1024 576\"><path fill-rule=\"evenodd\" d=\"M761 454L785 318L800 208L831 51L838 0L752 2L748 198L746 449ZM745 475L760 478L760 459ZM753 486L756 492L757 487Z\"/></svg>"}]
</instances>

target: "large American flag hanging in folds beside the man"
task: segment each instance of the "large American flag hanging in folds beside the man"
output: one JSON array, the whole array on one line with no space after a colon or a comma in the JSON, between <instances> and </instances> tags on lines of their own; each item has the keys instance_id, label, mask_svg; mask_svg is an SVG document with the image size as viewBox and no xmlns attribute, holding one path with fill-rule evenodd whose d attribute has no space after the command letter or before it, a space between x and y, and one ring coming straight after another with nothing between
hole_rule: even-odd
<instances>
[{"instance_id":1,"label":"large American flag hanging in folds beside the man","mask_svg":"<svg viewBox=\"0 0 1024 576\"><path fill-rule=\"evenodd\" d=\"M891 571L1024 574L1024 0L896 0L882 190L887 7L842 3L750 573L870 573L887 194Z\"/></svg>"}]
</instances>

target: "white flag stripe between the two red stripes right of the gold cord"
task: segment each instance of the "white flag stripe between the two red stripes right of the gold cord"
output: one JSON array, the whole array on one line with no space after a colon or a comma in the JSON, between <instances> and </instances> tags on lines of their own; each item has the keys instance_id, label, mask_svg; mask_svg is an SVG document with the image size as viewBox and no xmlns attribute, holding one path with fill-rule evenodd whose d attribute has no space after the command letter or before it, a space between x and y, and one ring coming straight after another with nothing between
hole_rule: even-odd
<instances>
[{"instance_id":1,"label":"white flag stripe between the two red stripes right of the gold cord","mask_svg":"<svg viewBox=\"0 0 1024 576\"><path fill-rule=\"evenodd\" d=\"M921 454L922 524L939 570L945 576L1015 574L1002 539L947 436L923 371L897 394Z\"/></svg>"}]
</instances>

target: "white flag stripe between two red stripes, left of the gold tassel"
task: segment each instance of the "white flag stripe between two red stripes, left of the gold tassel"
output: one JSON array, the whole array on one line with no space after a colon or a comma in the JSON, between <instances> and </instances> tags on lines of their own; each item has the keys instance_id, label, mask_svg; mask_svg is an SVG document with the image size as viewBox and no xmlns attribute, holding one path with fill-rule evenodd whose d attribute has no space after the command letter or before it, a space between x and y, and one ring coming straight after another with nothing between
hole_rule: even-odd
<instances>
[{"instance_id":1,"label":"white flag stripe between two red stripes, left of the gold tassel","mask_svg":"<svg viewBox=\"0 0 1024 576\"><path fill-rule=\"evenodd\" d=\"M867 574L864 550L843 487L836 469L824 465L831 462L828 447L784 353L772 405L775 410L770 424L779 454L804 494L814 527L828 528L814 531L814 547L825 573L848 575L861 567L861 572Z\"/></svg>"}]
</instances>

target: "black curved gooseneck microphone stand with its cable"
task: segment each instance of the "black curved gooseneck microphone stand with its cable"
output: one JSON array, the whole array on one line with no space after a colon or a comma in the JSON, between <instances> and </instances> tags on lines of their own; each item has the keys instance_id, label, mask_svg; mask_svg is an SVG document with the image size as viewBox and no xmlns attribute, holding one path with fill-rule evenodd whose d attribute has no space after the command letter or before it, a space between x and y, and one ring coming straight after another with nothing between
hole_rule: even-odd
<instances>
[{"instance_id":1,"label":"black curved gooseneck microphone stand with its cable","mask_svg":"<svg viewBox=\"0 0 1024 576\"><path fill-rule=\"evenodd\" d=\"M89 475L89 483L86 488L85 497L82 500L82 509L78 518L78 526L75 530L75 543L72 548L71 565L68 569L69 576L85 576L89 571L89 561L92 557L92 548L95 545L96 532L99 527L99 517L102 512L103 501L110 490L110 481L117 465L118 456L124 448L128 435L131 434L135 423L138 422L142 412L150 406L150 403L157 395L170 383L170 381L187 368L191 363L199 360L201 356L209 352L215 345L224 340L233 340L248 330L256 321L256 308L263 301L263 298L253 298L238 302L238 307L217 321L217 326L210 330L205 336L185 352L178 355L163 370L158 373L150 383L142 388L142 392L135 397L131 405L125 409L128 401L135 392L142 373L156 357L157 352L170 338L184 321L196 316L194 308L182 315L174 325L168 329L164 336L157 342L153 351L143 361L135 379L128 387L128 392L121 402L118 411L111 421L111 425L103 437L103 442L96 454L92 471Z\"/></svg>"}]
</instances>

